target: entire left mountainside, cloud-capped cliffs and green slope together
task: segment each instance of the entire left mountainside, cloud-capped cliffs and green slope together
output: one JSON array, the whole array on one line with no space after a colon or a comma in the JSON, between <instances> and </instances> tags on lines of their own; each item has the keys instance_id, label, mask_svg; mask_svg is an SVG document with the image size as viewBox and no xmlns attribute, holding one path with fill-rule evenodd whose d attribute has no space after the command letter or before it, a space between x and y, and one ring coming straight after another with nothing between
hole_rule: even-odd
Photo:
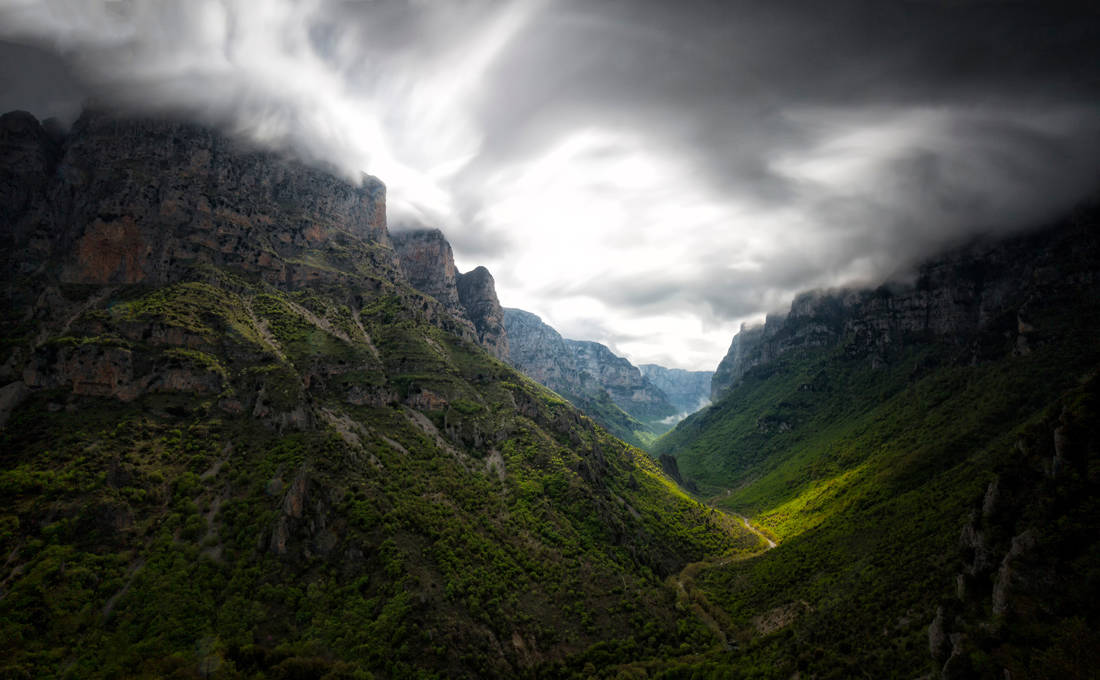
<instances>
[{"instance_id":1,"label":"entire left mountainside, cloud-capped cliffs and green slope together","mask_svg":"<svg viewBox=\"0 0 1100 680\"><path fill-rule=\"evenodd\" d=\"M411 286L380 182L16 113L0 197L0 676L572 677L716 644L666 578L759 539Z\"/></svg>"}]
</instances>

